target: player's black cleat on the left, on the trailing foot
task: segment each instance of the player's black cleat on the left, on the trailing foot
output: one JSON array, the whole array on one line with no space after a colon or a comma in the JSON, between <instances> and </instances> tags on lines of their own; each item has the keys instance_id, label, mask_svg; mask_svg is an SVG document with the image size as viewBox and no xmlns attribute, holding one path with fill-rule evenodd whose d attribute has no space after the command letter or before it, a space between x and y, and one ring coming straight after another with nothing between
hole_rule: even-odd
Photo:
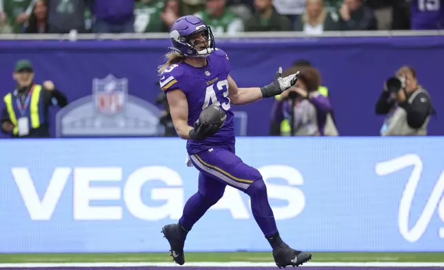
<instances>
[{"instance_id":1,"label":"player's black cleat on the left, on the trailing foot","mask_svg":"<svg viewBox=\"0 0 444 270\"><path fill-rule=\"evenodd\" d=\"M170 243L171 256L179 265L185 263L185 256L183 255L183 246L185 245L185 238L187 237L187 232L182 229L179 223L165 225L162 228L163 236Z\"/></svg>"}]
</instances>

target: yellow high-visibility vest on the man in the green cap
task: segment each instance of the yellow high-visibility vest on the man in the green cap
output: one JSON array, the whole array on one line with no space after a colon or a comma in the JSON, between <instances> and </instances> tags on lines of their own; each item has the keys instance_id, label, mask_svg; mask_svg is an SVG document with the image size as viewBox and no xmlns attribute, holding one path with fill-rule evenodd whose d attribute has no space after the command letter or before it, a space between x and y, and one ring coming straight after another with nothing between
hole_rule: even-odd
<instances>
[{"instance_id":1,"label":"yellow high-visibility vest on the man in the green cap","mask_svg":"<svg viewBox=\"0 0 444 270\"><path fill-rule=\"evenodd\" d=\"M32 90L30 105L26 109L29 110L31 127L33 129L40 127L40 116L39 116L40 93L41 93L41 85L37 84L34 85L34 89ZM5 101L10 121L15 126L14 129L12 130L12 134L18 135L19 127L17 124L17 116L15 115L14 111L14 105L12 104L12 93L6 94L6 96L3 97L3 101Z\"/></svg>"}]
</instances>

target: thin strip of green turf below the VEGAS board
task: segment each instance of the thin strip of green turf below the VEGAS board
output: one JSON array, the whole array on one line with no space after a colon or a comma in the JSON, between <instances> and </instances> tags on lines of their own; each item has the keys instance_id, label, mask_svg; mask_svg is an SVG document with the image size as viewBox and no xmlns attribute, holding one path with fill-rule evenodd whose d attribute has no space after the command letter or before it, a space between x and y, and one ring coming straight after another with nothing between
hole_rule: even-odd
<instances>
[{"instance_id":1,"label":"thin strip of green turf below the VEGAS board","mask_svg":"<svg viewBox=\"0 0 444 270\"><path fill-rule=\"evenodd\" d=\"M185 253L187 262L272 262L270 252ZM0 262L170 262L168 253L0 254ZM313 262L444 262L441 253L313 253Z\"/></svg>"}]
</instances>

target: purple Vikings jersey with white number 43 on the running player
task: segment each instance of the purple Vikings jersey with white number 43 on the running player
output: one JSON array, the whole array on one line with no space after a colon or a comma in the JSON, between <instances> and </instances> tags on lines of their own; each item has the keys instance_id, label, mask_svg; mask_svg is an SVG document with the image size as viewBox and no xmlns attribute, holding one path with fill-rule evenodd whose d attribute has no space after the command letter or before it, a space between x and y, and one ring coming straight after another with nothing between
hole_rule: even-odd
<instances>
[{"instance_id":1,"label":"purple Vikings jersey with white number 43 on the running player","mask_svg":"<svg viewBox=\"0 0 444 270\"><path fill-rule=\"evenodd\" d=\"M221 107L227 118L213 136L205 141L188 140L189 154L197 154L211 147L225 147L234 151L234 114L228 97L230 62L223 50L216 49L207 56L205 67L193 67L185 62L170 65L160 74L163 92L181 90L188 100L188 125L194 126L202 110L208 105Z\"/></svg>"}]
</instances>

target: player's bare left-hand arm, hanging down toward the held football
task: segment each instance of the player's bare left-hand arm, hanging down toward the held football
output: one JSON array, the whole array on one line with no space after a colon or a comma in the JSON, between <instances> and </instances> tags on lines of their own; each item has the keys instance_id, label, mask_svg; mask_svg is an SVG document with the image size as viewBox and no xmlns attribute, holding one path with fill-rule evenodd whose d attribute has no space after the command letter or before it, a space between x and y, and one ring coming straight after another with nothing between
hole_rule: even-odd
<instances>
[{"instance_id":1,"label":"player's bare left-hand arm, hanging down toward the held football","mask_svg":"<svg viewBox=\"0 0 444 270\"><path fill-rule=\"evenodd\" d=\"M187 97L181 90L168 91L166 96L168 105L170 106L170 114L174 128L179 137L188 140L192 127L188 125Z\"/></svg>"}]
</instances>

